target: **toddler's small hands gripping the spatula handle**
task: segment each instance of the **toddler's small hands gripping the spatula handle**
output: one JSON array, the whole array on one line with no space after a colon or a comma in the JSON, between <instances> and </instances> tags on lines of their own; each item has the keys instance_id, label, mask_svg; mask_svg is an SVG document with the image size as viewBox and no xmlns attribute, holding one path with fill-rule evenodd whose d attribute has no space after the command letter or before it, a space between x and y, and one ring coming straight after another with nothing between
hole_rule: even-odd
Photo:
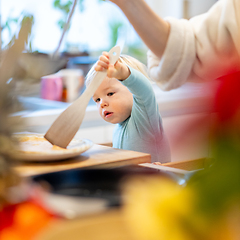
<instances>
[{"instance_id":1,"label":"toddler's small hands gripping the spatula handle","mask_svg":"<svg viewBox=\"0 0 240 240\"><path fill-rule=\"evenodd\" d=\"M97 65L95 67L96 71L104 71L107 69L107 76L109 78L116 78L120 81L124 81L130 76L129 68L117 61L115 65L109 63L109 54L108 52L103 52L97 61Z\"/></svg>"}]
</instances>

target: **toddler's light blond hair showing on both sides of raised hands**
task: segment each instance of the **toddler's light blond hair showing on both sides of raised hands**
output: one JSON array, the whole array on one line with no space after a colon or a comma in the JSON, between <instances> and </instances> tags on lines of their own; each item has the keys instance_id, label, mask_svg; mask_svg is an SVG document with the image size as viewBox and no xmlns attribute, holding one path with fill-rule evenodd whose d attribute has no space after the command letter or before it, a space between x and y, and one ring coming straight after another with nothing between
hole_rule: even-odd
<instances>
[{"instance_id":1,"label":"toddler's light blond hair showing on both sides of raised hands","mask_svg":"<svg viewBox=\"0 0 240 240\"><path fill-rule=\"evenodd\" d=\"M149 75L148 75L148 72L147 72L147 67L146 65L144 65L143 63L141 63L140 61L138 61L136 58L133 58L131 56L128 56L128 55L121 55L118 59L119 62L121 63L124 63L136 70L138 70L139 72L141 72L145 77L147 77L149 80ZM86 87L89 86L90 82L92 81L93 77L95 76L96 74L96 71L95 71L95 66L96 66L97 63L95 63L91 69L89 70L87 76L86 76L86 79L85 79L85 84L86 84Z\"/></svg>"}]
</instances>

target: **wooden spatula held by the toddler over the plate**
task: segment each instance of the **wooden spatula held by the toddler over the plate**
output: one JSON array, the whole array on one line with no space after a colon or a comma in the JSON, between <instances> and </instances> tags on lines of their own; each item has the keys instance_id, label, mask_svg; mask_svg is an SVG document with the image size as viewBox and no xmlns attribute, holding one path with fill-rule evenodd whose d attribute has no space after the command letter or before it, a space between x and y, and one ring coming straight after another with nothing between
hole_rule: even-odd
<instances>
[{"instance_id":1,"label":"wooden spatula held by the toddler over the plate","mask_svg":"<svg viewBox=\"0 0 240 240\"><path fill-rule=\"evenodd\" d=\"M109 51L110 63L115 64L119 55L120 47L113 47ZM88 102L106 76L107 71L96 72L83 94L60 114L44 136L50 143L62 148L68 146L81 126Z\"/></svg>"}]
</instances>

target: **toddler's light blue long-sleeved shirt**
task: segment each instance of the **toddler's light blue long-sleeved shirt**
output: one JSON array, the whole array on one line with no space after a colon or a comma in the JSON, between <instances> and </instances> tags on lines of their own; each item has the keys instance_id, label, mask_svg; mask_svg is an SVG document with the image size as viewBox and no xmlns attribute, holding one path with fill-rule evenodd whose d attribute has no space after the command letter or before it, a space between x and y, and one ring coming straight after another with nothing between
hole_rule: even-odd
<instances>
[{"instance_id":1,"label":"toddler's light blue long-sleeved shirt","mask_svg":"<svg viewBox=\"0 0 240 240\"><path fill-rule=\"evenodd\" d=\"M129 118L116 125L113 147L150 153L152 162L170 162L170 147L152 85L141 72L129 69L131 74L122 84L133 94L132 112Z\"/></svg>"}]
</instances>

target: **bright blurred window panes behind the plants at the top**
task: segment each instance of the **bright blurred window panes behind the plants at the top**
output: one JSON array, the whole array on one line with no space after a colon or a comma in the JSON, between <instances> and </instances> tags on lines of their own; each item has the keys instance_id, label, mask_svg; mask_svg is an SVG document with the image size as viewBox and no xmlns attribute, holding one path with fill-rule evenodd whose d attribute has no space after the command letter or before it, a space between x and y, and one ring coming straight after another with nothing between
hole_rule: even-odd
<instances>
[{"instance_id":1,"label":"bright blurred window panes behind the plants at the top","mask_svg":"<svg viewBox=\"0 0 240 240\"><path fill-rule=\"evenodd\" d=\"M28 13L34 16L30 39L32 50L44 53L54 52L62 34L57 22L63 19L63 13L53 6L53 2L54 0L2 0L2 26L9 24L9 28L5 27L2 31L3 46L9 42L17 30L17 24L12 20ZM116 5L99 0L84 0L83 6L84 10L81 12L78 2L60 52L92 53L108 50L113 45L118 26L121 26L118 34L124 39L128 48L131 46L144 48L135 30ZM121 35L122 33L124 35Z\"/></svg>"}]
</instances>

